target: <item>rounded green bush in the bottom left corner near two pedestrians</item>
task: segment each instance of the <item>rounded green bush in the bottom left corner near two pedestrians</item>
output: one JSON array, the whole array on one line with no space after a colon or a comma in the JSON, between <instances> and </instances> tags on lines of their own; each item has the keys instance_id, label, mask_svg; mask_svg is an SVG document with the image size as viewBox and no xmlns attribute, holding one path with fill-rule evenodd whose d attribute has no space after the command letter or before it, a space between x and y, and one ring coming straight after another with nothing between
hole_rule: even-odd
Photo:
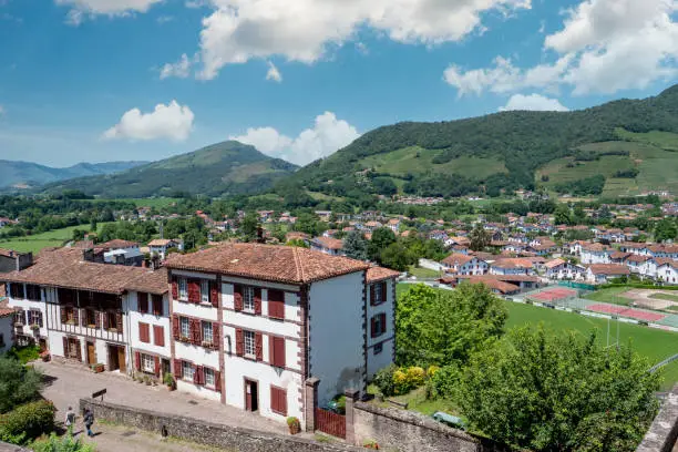
<instances>
[{"instance_id":1,"label":"rounded green bush in the bottom left corner near two pedestrians","mask_svg":"<svg viewBox=\"0 0 678 452\"><path fill-rule=\"evenodd\" d=\"M0 439L23 443L51 433L54 430L55 411L52 402L47 400L22 404L0 417Z\"/></svg>"}]
</instances>

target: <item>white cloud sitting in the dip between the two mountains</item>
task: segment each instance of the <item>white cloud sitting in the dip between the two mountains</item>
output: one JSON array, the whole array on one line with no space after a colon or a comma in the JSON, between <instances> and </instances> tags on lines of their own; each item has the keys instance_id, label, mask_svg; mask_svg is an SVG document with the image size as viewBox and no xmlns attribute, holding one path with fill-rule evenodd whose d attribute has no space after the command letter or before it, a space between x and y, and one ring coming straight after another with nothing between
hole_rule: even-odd
<instances>
[{"instance_id":1,"label":"white cloud sitting in the dip between the two mountains","mask_svg":"<svg viewBox=\"0 0 678 452\"><path fill-rule=\"evenodd\" d=\"M244 135L230 136L242 143L251 144L264 154L306 165L327 157L352 143L360 134L348 122L338 120L335 113L325 112L316 117L312 129L291 138L274 127L248 129Z\"/></svg>"}]
</instances>

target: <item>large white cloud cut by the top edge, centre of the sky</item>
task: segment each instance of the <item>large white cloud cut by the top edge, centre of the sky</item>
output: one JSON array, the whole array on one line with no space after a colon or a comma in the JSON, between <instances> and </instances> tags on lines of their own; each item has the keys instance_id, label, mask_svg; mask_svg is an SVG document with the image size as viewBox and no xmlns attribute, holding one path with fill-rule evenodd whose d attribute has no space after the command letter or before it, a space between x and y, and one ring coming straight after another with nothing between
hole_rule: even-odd
<instances>
[{"instance_id":1,"label":"large white cloud cut by the top edge, centre of the sky","mask_svg":"<svg viewBox=\"0 0 678 452\"><path fill-rule=\"evenodd\" d=\"M214 79L227 64L271 55L312 63L363 25L402 43L459 41L483 30L482 13L508 14L531 8L531 1L212 0L215 11L201 32L201 76Z\"/></svg>"}]
</instances>

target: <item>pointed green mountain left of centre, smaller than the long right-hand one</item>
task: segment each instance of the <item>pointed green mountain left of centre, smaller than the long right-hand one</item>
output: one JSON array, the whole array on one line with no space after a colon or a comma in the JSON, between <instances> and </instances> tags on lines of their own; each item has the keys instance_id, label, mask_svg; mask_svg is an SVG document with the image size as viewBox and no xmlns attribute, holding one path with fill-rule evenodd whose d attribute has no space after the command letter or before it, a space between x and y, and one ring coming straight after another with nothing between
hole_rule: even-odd
<instances>
[{"instance_id":1,"label":"pointed green mountain left of centre, smaller than the long right-hand one","mask_svg":"<svg viewBox=\"0 0 678 452\"><path fill-rule=\"evenodd\" d=\"M147 197L177 192L218 196L259 192L297 166L235 141L97 177L50 184L47 192L76 189L104 197Z\"/></svg>"}]
</instances>

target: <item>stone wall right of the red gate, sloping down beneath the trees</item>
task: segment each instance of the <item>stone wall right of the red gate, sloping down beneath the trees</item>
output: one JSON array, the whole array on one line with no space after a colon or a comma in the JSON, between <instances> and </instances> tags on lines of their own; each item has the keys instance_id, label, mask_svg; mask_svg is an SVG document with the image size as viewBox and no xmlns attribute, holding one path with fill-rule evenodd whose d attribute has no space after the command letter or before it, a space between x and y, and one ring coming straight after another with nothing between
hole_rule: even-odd
<instances>
[{"instance_id":1,"label":"stone wall right of the red gate, sloping down beneath the trees","mask_svg":"<svg viewBox=\"0 0 678 452\"><path fill-rule=\"evenodd\" d=\"M347 410L349 409L347 403ZM353 402L353 441L372 440L383 450L399 452L484 452L501 451L492 442L451 429L423 414L370 403ZM348 425L347 425L348 428Z\"/></svg>"}]
</instances>

